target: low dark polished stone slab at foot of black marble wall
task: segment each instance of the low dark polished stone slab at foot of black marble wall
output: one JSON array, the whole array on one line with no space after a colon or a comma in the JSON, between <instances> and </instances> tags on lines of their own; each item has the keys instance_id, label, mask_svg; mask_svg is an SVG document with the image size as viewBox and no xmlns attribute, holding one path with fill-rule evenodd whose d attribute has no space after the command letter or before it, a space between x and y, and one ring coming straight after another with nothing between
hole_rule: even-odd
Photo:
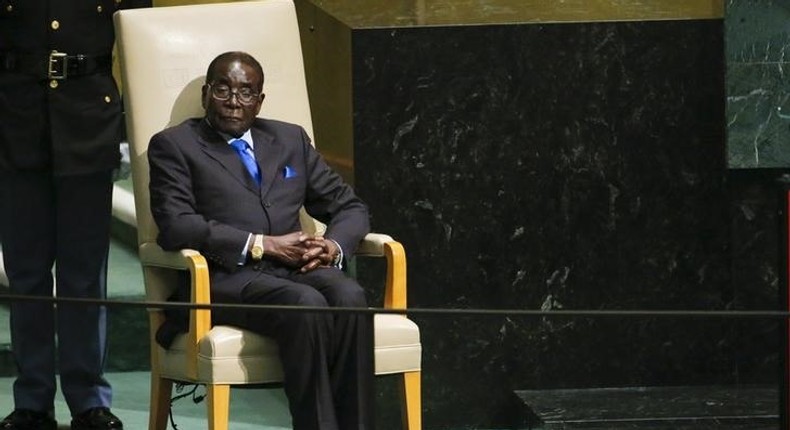
<instances>
[{"instance_id":1,"label":"low dark polished stone slab at foot of black marble wall","mask_svg":"<svg viewBox=\"0 0 790 430\"><path fill-rule=\"evenodd\" d=\"M778 429L775 386L524 390L516 395L542 429Z\"/></svg>"}]
</instances>

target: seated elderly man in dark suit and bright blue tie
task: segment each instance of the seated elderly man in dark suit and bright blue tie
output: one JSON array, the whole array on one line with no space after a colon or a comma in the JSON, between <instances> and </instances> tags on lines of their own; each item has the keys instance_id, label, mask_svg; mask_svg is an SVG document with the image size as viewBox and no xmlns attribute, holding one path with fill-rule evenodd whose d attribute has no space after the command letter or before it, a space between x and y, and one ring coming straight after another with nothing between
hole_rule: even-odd
<instances>
[{"instance_id":1,"label":"seated elderly man in dark suit and bright blue tie","mask_svg":"<svg viewBox=\"0 0 790 430\"><path fill-rule=\"evenodd\" d=\"M151 138L158 242L207 257L214 302L366 307L341 266L369 231L367 207L302 127L256 117L263 81L250 55L219 55L202 88L205 117ZM327 224L324 237L300 231L302 206ZM369 316L215 311L213 318L276 340L294 429L373 428Z\"/></svg>"}]
</instances>

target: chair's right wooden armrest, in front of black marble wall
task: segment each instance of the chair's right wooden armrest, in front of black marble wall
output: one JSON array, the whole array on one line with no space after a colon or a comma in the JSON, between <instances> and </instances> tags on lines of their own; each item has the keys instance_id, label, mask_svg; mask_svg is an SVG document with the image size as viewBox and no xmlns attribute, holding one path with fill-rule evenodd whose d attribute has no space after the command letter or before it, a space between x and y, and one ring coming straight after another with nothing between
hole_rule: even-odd
<instances>
[{"instance_id":1,"label":"chair's right wooden armrest, in front of black marble wall","mask_svg":"<svg viewBox=\"0 0 790 430\"><path fill-rule=\"evenodd\" d=\"M406 309L406 251L400 242L386 234L370 233L362 239L356 255L386 257L387 279L384 286L384 307Z\"/></svg>"}]
</instances>

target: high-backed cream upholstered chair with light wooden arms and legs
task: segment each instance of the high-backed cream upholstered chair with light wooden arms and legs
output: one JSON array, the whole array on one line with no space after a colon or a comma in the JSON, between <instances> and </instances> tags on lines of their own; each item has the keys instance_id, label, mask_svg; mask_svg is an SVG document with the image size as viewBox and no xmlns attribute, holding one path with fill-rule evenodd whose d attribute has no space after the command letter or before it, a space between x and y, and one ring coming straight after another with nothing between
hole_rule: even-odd
<instances>
[{"instance_id":1,"label":"high-backed cream upholstered chair with light wooden arms and legs","mask_svg":"<svg viewBox=\"0 0 790 430\"><path fill-rule=\"evenodd\" d=\"M115 25L146 297L166 300L178 284L179 271L188 271L192 301L209 303L210 274L204 257L188 249L165 252L156 244L148 195L148 141L167 126L203 115L200 87L206 67L217 54L232 50L249 52L263 64L266 101L261 115L300 124L312 135L294 5L290 0L264 0L132 9L116 14ZM306 231L320 233L316 221L307 216L302 221ZM405 308L403 247L389 236L370 234L357 255L386 258L383 306ZM189 332L164 349L154 339L163 321L161 309L150 311L150 430L167 425L173 381L206 385L208 427L215 430L228 428L230 386L282 381L273 340L236 327L212 327L210 310L199 309L190 311ZM374 325L376 374L399 374L403 427L420 429L419 329L394 313L375 315Z\"/></svg>"}]
</instances>

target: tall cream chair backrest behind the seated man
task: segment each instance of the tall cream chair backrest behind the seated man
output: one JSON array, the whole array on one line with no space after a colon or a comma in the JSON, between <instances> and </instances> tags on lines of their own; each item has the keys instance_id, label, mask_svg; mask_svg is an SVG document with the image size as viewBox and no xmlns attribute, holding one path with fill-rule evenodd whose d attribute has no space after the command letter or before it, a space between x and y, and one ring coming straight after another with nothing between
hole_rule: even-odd
<instances>
[{"instance_id":1,"label":"tall cream chair backrest behind the seated man","mask_svg":"<svg viewBox=\"0 0 790 430\"><path fill-rule=\"evenodd\" d=\"M156 132L203 116L200 87L226 51L263 66L260 116L300 124L312 136L296 10L291 0L123 10L115 15L130 143L138 244L156 240L148 193L148 142Z\"/></svg>"}]
</instances>

